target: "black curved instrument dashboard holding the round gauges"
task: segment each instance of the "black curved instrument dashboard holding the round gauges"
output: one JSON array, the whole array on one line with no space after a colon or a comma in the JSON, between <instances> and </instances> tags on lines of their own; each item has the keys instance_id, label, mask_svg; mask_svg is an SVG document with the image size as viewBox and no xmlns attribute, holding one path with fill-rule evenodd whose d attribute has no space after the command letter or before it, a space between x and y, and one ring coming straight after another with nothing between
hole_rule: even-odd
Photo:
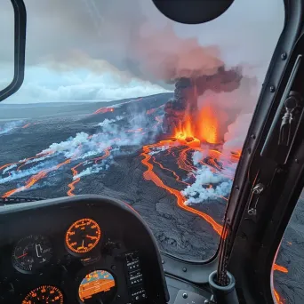
<instances>
[{"instance_id":1,"label":"black curved instrument dashboard holding the round gauges","mask_svg":"<svg viewBox=\"0 0 304 304\"><path fill-rule=\"evenodd\" d=\"M168 301L154 236L127 204L73 196L1 207L1 303Z\"/></svg>"}]
</instances>

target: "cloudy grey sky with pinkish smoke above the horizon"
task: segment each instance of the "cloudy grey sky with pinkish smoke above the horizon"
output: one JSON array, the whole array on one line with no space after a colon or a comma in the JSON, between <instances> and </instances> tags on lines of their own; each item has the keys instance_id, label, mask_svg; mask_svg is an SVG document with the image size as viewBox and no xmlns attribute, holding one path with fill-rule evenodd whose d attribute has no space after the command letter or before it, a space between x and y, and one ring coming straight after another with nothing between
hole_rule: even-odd
<instances>
[{"instance_id":1,"label":"cloudy grey sky with pinkish smoke above the horizon","mask_svg":"<svg viewBox=\"0 0 304 304\"><path fill-rule=\"evenodd\" d=\"M13 17L0 3L0 85L12 79ZM150 0L25 0L25 81L5 103L118 100L241 66L261 84L284 25L283 0L236 0L217 20L167 20Z\"/></svg>"}]
</instances>

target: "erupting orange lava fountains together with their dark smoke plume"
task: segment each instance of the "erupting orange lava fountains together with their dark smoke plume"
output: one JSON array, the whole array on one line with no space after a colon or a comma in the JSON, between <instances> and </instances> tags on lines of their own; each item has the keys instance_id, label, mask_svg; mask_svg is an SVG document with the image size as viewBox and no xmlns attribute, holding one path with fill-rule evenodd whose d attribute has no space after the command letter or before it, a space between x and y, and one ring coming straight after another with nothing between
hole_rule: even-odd
<instances>
[{"instance_id":1,"label":"erupting orange lava fountains together with their dark smoke plume","mask_svg":"<svg viewBox=\"0 0 304 304\"><path fill-rule=\"evenodd\" d=\"M209 144L221 143L224 130L216 117L211 100L204 100L199 109L198 97L207 90L232 92L240 86L241 71L220 67L212 76L182 77L176 81L174 97L164 106L163 132L188 142L196 139Z\"/></svg>"}]
</instances>

